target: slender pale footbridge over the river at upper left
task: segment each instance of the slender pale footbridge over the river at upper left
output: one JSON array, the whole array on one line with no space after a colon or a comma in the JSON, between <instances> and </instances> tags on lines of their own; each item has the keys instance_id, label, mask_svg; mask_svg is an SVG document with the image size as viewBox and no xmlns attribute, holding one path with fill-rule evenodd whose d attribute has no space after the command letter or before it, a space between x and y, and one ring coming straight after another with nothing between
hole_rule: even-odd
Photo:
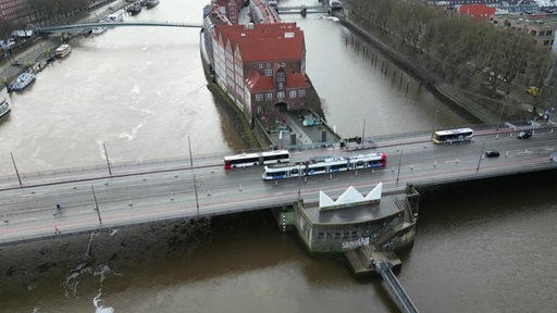
<instances>
[{"instance_id":1,"label":"slender pale footbridge over the river at upper left","mask_svg":"<svg viewBox=\"0 0 557 313\"><path fill-rule=\"evenodd\" d=\"M177 22L111 22L111 23L83 23L83 24L69 24L57 26L37 27L35 30L40 34L52 33L81 33L89 30L95 27L122 27L122 26L157 26L157 27L185 27L185 28L201 28L199 23L177 23Z\"/></svg>"}]
</instances>

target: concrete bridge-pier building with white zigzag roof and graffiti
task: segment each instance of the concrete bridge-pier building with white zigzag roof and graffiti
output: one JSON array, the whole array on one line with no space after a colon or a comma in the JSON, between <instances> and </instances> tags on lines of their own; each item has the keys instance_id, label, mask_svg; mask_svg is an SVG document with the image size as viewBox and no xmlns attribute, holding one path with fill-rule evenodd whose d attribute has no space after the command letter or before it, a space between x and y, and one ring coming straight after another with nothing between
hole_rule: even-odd
<instances>
[{"instance_id":1,"label":"concrete bridge-pier building with white zigzag roof and graffiti","mask_svg":"<svg viewBox=\"0 0 557 313\"><path fill-rule=\"evenodd\" d=\"M380 250L410 247L419 193L412 186L405 192L382 192L381 183L366 196L349 187L336 200L320 191L319 203L297 205L292 224L311 253L341 253L361 246Z\"/></svg>"}]
</instances>

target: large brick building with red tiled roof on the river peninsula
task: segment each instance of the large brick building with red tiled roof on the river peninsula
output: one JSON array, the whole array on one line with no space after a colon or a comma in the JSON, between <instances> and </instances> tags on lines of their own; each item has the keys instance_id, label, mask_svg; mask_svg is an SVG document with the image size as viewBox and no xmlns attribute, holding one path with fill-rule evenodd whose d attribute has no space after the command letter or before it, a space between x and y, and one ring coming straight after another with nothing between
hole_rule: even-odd
<instances>
[{"instance_id":1,"label":"large brick building with red tiled roof on the river peninsula","mask_svg":"<svg viewBox=\"0 0 557 313\"><path fill-rule=\"evenodd\" d=\"M277 120L282 111L307 109L306 96L312 86L306 76L304 32L296 23L271 16L261 18L261 24L237 25L224 7L212 8L203 20L203 39L210 41L206 51L211 54L214 80L246 118L251 123L257 116Z\"/></svg>"}]
</instances>

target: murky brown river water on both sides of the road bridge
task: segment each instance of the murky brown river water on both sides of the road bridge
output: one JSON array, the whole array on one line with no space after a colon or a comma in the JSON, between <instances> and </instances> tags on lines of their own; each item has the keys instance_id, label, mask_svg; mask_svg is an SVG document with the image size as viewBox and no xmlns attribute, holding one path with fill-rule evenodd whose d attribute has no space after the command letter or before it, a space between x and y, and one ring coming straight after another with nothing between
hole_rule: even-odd
<instances>
[{"instance_id":1,"label":"murky brown river water on both sides of the road bridge","mask_svg":"<svg viewBox=\"0 0 557 313\"><path fill-rule=\"evenodd\" d=\"M281 2L292 3L313 1ZM125 18L197 22L205 4L162 0ZM381 73L338 23L286 17L305 32L308 75L343 136L466 123L411 78L407 91ZM206 87L198 45L198 29L156 27L76 41L13 96L0 124L2 173L8 152L32 172L102 164L103 145L116 163L185 155L188 141L195 155L240 150ZM423 200L414 247L401 255L398 278L419 310L553 312L554 190L503 179L446 191ZM398 310L380 279L310 258L265 212L7 247L0 259L2 312Z\"/></svg>"}]
</instances>

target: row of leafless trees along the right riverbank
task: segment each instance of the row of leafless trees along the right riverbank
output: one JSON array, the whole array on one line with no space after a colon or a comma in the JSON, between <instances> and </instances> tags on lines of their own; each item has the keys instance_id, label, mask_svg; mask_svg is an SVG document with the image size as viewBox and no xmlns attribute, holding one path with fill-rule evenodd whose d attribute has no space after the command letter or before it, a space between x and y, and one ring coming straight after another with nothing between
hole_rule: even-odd
<instances>
[{"instance_id":1,"label":"row of leafless trees along the right riverbank","mask_svg":"<svg viewBox=\"0 0 557 313\"><path fill-rule=\"evenodd\" d=\"M535 105L555 105L557 58L524 33L505 30L467 15L447 14L425 1L345 0L350 21L379 34L448 83L495 96L536 86ZM543 104L543 105L542 105Z\"/></svg>"}]
</instances>

